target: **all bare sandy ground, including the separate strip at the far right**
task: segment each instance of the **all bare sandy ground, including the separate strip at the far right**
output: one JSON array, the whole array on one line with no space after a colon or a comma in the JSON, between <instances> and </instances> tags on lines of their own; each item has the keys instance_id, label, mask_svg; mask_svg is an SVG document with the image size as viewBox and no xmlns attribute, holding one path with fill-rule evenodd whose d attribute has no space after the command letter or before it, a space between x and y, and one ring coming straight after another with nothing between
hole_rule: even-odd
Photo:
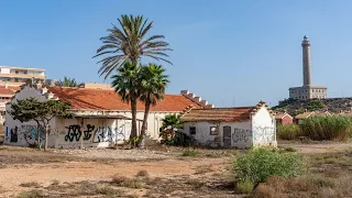
<instances>
[{"instance_id":1,"label":"all bare sandy ground, including the separate strip at the far right","mask_svg":"<svg viewBox=\"0 0 352 198\"><path fill-rule=\"evenodd\" d=\"M327 153L351 148L352 144L286 142L279 146L296 147L300 153ZM52 150L46 152L45 156L42 153L30 148L0 146L0 197L11 197L18 191L26 190L20 185L29 182L48 186L54 179L61 183L110 180L116 174L133 177L139 170L147 170L151 177L172 178L182 175L198 177L196 172L206 166L211 168L211 174L222 174L229 173L231 160L229 156L180 157L179 152L136 150ZM38 157L40 161L21 161L22 157L31 158L31 155ZM61 156L69 157L61 158ZM55 160L56 157L58 158Z\"/></svg>"}]
</instances>

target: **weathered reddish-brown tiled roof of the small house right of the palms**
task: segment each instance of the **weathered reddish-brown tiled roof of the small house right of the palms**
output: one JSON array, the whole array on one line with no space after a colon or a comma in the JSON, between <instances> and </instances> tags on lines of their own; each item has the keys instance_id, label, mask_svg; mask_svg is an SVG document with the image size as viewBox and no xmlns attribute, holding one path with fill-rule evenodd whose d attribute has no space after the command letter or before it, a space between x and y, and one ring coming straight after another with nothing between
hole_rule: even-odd
<instances>
[{"instance_id":1,"label":"weathered reddish-brown tiled roof of the small house right of the palms","mask_svg":"<svg viewBox=\"0 0 352 198\"><path fill-rule=\"evenodd\" d=\"M183 121L246 121L255 107L193 109L182 118Z\"/></svg>"}]
</instances>

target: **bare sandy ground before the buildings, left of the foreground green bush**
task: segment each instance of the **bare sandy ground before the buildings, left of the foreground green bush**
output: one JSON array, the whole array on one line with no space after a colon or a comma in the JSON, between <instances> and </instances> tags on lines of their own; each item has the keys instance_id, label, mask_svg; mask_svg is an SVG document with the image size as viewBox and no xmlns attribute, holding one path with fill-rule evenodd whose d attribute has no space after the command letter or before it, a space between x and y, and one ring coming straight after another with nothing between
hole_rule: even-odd
<instances>
[{"instance_id":1,"label":"bare sandy ground before the buildings, left of the foreground green bush","mask_svg":"<svg viewBox=\"0 0 352 198\"><path fill-rule=\"evenodd\" d=\"M20 148L18 148L20 150ZM21 150L20 150L21 151ZM9 151L1 151L9 152ZM52 151L51 155L66 153L70 156L87 157L87 161L62 161L58 163L24 164L15 163L0 168L0 197L10 197L18 191L26 190L22 183L36 182L42 186L48 186L56 179L61 183L74 183L81 180L111 180L116 174L133 177L139 170L147 170L151 177L172 178L182 175L195 175L200 166L211 166L212 173L222 172L228 164L228 157L198 158L175 157L175 155L154 154L154 152L134 151L143 155L131 154L131 151L92 150L92 151ZM68 154L69 153L69 154ZM112 156L108 156L108 154ZM130 155L127 156L127 153ZM99 155L100 154L100 155ZM95 155L112 161L94 162ZM125 157L122 160L122 157ZM143 156L143 157L142 157ZM178 155L180 156L180 155ZM47 156L45 156L47 157ZM139 161L131 161L136 158Z\"/></svg>"}]
</instances>

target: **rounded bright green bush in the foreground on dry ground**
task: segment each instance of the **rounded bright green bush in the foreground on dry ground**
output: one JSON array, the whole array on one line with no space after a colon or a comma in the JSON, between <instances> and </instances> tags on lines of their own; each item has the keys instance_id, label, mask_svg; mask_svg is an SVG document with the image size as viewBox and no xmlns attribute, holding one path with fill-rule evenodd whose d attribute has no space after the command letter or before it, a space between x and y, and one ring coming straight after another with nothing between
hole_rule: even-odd
<instances>
[{"instance_id":1,"label":"rounded bright green bush in the foreground on dry ground","mask_svg":"<svg viewBox=\"0 0 352 198\"><path fill-rule=\"evenodd\" d=\"M238 155L233 161L233 172L238 182L250 180L254 185L270 176L290 178L301 175L304 170L301 155L279 153L276 150L253 148Z\"/></svg>"}]
</instances>

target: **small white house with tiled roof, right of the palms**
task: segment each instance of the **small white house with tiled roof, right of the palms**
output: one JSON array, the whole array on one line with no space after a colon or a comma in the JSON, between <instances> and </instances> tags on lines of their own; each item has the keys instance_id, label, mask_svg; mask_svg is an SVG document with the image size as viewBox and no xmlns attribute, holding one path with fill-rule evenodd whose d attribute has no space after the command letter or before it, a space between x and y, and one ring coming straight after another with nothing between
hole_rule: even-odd
<instances>
[{"instance_id":1,"label":"small white house with tiled roof, right of the palms","mask_svg":"<svg viewBox=\"0 0 352 198\"><path fill-rule=\"evenodd\" d=\"M237 148L277 145L275 116L265 102L255 107L193 109L182 120L184 133L202 145Z\"/></svg>"}]
</instances>

